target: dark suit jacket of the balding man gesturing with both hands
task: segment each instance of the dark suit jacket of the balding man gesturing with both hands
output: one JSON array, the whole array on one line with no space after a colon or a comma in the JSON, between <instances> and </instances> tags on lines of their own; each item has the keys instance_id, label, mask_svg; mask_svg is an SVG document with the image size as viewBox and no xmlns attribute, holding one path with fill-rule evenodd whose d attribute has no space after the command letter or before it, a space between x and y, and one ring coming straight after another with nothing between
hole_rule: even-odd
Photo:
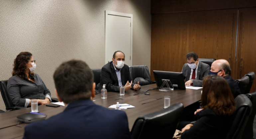
<instances>
[{"instance_id":1,"label":"dark suit jacket of the balding man gesturing with both hands","mask_svg":"<svg viewBox=\"0 0 256 139\"><path fill-rule=\"evenodd\" d=\"M121 70L121 81L122 85L125 86L126 82L132 81L132 77L130 74L129 67L124 64L124 67ZM120 92L120 87L118 84L118 79L115 71L115 67L113 66L113 62L107 63L104 65L101 69L101 75L100 75L100 85L98 91L103 87L103 84L106 84L106 89L108 92ZM132 88L135 83L132 83Z\"/></svg>"}]
</instances>

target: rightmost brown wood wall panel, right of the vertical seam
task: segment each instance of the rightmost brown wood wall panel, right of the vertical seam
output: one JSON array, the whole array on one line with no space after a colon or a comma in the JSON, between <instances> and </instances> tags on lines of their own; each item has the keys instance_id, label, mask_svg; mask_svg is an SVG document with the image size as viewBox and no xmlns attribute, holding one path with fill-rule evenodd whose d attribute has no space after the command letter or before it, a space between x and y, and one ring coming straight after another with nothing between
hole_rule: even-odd
<instances>
[{"instance_id":1,"label":"rightmost brown wood wall panel, right of the vertical seam","mask_svg":"<svg viewBox=\"0 0 256 139\"><path fill-rule=\"evenodd\" d=\"M256 73L256 8L239 9L236 78ZM256 80L250 92L256 90Z\"/></svg>"}]
</instances>

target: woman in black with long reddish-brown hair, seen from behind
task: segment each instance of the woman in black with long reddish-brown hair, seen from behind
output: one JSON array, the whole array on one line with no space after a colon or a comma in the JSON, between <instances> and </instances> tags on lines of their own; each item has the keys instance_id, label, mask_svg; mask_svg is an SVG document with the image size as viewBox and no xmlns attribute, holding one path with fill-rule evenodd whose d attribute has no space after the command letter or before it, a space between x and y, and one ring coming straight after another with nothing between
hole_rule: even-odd
<instances>
[{"instance_id":1,"label":"woman in black with long reddish-brown hair, seen from behind","mask_svg":"<svg viewBox=\"0 0 256 139\"><path fill-rule=\"evenodd\" d=\"M196 114L194 124L182 129L181 139L222 138L231 115L235 112L235 100L227 81L217 75L203 79L201 96L202 112Z\"/></svg>"}]
</instances>

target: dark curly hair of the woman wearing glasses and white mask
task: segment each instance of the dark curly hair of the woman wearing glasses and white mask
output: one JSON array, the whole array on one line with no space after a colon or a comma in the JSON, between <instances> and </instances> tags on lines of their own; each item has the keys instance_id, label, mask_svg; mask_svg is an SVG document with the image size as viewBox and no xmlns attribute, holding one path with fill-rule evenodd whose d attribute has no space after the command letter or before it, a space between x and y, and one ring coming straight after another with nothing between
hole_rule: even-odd
<instances>
[{"instance_id":1,"label":"dark curly hair of the woman wearing glasses and white mask","mask_svg":"<svg viewBox=\"0 0 256 139\"><path fill-rule=\"evenodd\" d=\"M25 71L29 70L26 66L28 63L28 60L30 60L32 57L32 54L30 52L20 52L19 55L14 59L14 64L13 64L13 70L12 70L12 75L19 76L20 78L25 77ZM34 72L30 72L31 75L34 75Z\"/></svg>"}]
</instances>

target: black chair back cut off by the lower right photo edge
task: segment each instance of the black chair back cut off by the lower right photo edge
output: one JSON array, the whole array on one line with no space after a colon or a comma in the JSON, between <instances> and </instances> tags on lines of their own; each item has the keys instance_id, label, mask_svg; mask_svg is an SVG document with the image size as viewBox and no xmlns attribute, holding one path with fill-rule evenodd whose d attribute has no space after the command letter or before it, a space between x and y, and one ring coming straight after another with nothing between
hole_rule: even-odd
<instances>
[{"instance_id":1,"label":"black chair back cut off by the lower right photo edge","mask_svg":"<svg viewBox=\"0 0 256 139\"><path fill-rule=\"evenodd\" d=\"M244 128L242 139L253 139L253 121L256 115L256 92L246 94L252 102L252 113L250 114L247 124Z\"/></svg>"}]
</instances>

